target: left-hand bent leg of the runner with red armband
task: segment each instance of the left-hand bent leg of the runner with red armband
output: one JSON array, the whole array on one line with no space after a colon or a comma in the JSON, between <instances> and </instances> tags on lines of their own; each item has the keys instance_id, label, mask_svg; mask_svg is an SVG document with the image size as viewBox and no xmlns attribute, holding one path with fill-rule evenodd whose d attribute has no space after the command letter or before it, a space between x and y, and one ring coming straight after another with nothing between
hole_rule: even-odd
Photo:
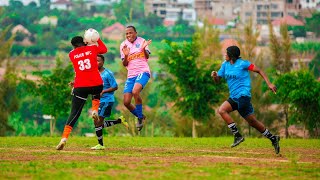
<instances>
[{"instance_id":1,"label":"left-hand bent leg of the runner with red armband","mask_svg":"<svg viewBox=\"0 0 320 180\"><path fill-rule=\"evenodd\" d=\"M238 108L237 103L233 101L231 98L229 98L227 101L222 103L222 105L219 107L219 110L218 110L220 116L228 124L228 127L230 128L231 132L234 135L234 142L231 145L231 147L235 147L244 141L244 138L240 134L236 123L233 121L233 119L229 114L230 112L237 110L237 108Z\"/></svg>"}]
</instances>

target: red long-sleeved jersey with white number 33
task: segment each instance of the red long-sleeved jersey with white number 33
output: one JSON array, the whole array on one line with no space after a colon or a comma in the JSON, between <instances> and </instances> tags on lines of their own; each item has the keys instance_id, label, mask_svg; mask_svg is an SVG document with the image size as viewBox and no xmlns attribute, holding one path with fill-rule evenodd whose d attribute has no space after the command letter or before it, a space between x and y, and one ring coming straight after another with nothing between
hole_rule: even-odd
<instances>
[{"instance_id":1,"label":"red long-sleeved jersey with white number 33","mask_svg":"<svg viewBox=\"0 0 320 180\"><path fill-rule=\"evenodd\" d=\"M107 51L106 45L100 39L98 46L81 46L70 51L69 58L76 73L74 87L91 87L103 84L98 70L97 55Z\"/></svg>"}]
</instances>

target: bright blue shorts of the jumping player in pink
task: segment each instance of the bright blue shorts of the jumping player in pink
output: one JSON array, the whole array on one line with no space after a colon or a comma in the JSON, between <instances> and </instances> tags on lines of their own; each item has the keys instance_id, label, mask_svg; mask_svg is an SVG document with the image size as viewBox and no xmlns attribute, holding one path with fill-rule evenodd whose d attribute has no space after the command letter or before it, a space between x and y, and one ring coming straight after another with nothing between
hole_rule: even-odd
<instances>
[{"instance_id":1,"label":"bright blue shorts of the jumping player in pink","mask_svg":"<svg viewBox=\"0 0 320 180\"><path fill-rule=\"evenodd\" d=\"M150 79L150 74L147 72L141 73L138 76L128 78L126 84L124 85L123 93L132 93L133 86L135 83L142 85L142 89L146 86Z\"/></svg>"}]
</instances>

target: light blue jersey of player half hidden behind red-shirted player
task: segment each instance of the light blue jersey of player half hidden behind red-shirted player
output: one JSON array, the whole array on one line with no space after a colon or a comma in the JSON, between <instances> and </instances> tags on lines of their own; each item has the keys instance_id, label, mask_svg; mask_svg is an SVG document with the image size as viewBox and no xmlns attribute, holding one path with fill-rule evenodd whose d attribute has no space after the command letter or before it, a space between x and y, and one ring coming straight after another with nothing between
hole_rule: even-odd
<instances>
[{"instance_id":1,"label":"light blue jersey of player half hidden behind red-shirted player","mask_svg":"<svg viewBox=\"0 0 320 180\"><path fill-rule=\"evenodd\" d=\"M104 69L103 72L100 73L101 78L103 80L103 90L108 89L110 87L115 88L118 87L118 84L114 78L113 73L108 70ZM114 91L103 93L100 97L100 102L114 102Z\"/></svg>"}]
</instances>

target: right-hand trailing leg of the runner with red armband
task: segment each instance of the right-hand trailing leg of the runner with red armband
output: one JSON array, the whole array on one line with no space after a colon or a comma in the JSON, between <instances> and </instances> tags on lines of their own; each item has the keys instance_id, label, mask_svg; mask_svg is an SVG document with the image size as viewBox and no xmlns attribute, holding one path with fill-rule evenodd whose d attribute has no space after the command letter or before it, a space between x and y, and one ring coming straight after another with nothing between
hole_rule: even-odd
<instances>
[{"instance_id":1,"label":"right-hand trailing leg of the runner with red armband","mask_svg":"<svg viewBox=\"0 0 320 180\"><path fill-rule=\"evenodd\" d=\"M248 122L251 127L254 127L258 130L262 135L270 139L276 154L280 152L280 137L276 135L272 135L271 132L262 124L260 121L256 119L256 116L253 114L254 110L251 104L250 97L240 97L239 98L239 113L240 115Z\"/></svg>"}]
</instances>

